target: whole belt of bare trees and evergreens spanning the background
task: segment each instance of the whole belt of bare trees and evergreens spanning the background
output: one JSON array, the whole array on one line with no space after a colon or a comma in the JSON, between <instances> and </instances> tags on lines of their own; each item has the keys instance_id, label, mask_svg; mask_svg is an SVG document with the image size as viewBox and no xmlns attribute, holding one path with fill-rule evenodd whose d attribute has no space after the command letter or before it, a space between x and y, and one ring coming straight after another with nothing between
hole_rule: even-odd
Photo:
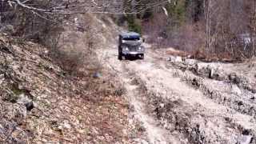
<instances>
[{"instance_id":1,"label":"whole belt of bare trees and evergreens spanning the background","mask_svg":"<svg viewBox=\"0 0 256 144\"><path fill-rule=\"evenodd\" d=\"M77 26L74 15L90 13L112 15L119 26L147 35L147 42L197 58L255 56L254 0L6 0L0 2L0 27L13 27L10 31L15 36L54 47L66 22ZM90 31L84 22L78 29Z\"/></svg>"}]
</instances>

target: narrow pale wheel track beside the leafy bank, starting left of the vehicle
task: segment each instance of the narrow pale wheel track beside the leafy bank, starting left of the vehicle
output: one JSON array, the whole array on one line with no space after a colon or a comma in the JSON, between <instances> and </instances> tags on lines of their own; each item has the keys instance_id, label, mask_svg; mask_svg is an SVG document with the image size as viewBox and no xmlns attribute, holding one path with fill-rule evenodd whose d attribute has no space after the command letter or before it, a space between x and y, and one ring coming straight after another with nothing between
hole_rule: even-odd
<instances>
[{"instance_id":1,"label":"narrow pale wheel track beside the leafy bank, starting left of the vehicle","mask_svg":"<svg viewBox=\"0 0 256 144\"><path fill-rule=\"evenodd\" d=\"M120 62L118 61L117 54L115 54L114 49L110 49L107 51L102 51L103 54L101 57L104 57L107 63L105 66L114 70L115 75L123 82L123 86L126 89L126 99L130 102L130 106L132 107L132 114L134 121L139 121L142 123L143 129L145 129L145 133L147 135L146 141L145 138L138 138L134 140L134 143L150 143L150 144L178 144L185 143L180 142L175 135L171 135L170 132L161 126L158 126L158 122L156 122L157 118L154 118L151 114L146 110L145 102L142 102L141 91L137 85L134 85L132 82L132 78L134 74L130 74L130 70L126 69L126 65L129 64L128 61ZM137 61L138 63L142 63Z\"/></svg>"}]
</instances>

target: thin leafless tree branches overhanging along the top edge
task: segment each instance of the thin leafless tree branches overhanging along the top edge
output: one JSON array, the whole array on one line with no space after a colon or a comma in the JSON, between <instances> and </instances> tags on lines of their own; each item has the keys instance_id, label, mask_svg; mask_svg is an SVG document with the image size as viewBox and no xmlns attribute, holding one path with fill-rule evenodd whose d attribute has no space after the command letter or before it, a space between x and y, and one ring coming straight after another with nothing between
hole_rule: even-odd
<instances>
[{"instance_id":1,"label":"thin leafless tree branches overhanging along the top edge","mask_svg":"<svg viewBox=\"0 0 256 144\"><path fill-rule=\"evenodd\" d=\"M33 11L34 13L45 14L83 14L83 13L103 13L103 14L138 14L142 11L150 9L155 6L161 6L169 2L162 0L158 2L144 3L142 6L140 1L128 1L132 6L127 5L124 1L113 0L80 0L80 1L46 1L46 6L38 1L30 0L2 0L8 2L11 7L22 7L23 9Z\"/></svg>"}]
</instances>

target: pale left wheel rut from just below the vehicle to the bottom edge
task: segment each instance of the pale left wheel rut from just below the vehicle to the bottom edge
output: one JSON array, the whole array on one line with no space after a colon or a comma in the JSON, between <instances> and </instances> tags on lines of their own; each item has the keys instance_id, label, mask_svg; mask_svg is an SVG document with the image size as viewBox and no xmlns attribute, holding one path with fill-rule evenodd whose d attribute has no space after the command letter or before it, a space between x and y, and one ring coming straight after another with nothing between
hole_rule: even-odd
<instances>
[{"instance_id":1,"label":"pale left wheel rut from just below the vehicle to the bottom edge","mask_svg":"<svg viewBox=\"0 0 256 144\"><path fill-rule=\"evenodd\" d=\"M173 134L170 134L168 130L159 126L157 118L148 113L146 103L142 99L144 93L140 90L139 83L134 84L133 82L134 74L131 74L130 70L126 69L126 63L123 63L122 67L120 77L127 90L126 96L130 105L134 107L134 118L142 122L142 126L146 130L147 142L150 144L182 143Z\"/></svg>"}]
</instances>

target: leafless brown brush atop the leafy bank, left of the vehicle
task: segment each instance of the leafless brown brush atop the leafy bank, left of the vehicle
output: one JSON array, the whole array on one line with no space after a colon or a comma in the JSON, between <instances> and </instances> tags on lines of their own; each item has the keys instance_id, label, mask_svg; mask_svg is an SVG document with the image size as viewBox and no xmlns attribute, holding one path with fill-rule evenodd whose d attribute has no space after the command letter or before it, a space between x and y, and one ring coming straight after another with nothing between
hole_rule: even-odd
<instances>
[{"instance_id":1,"label":"leafless brown brush atop the leafy bank, left of the vehicle","mask_svg":"<svg viewBox=\"0 0 256 144\"><path fill-rule=\"evenodd\" d=\"M59 66L72 76L88 76L99 71L101 65L95 52L95 48L101 41L98 31L94 30L94 19L90 15L77 15L79 27L84 31L78 31L76 26L66 26L65 31L53 38L48 38L50 55Z\"/></svg>"}]
</instances>

